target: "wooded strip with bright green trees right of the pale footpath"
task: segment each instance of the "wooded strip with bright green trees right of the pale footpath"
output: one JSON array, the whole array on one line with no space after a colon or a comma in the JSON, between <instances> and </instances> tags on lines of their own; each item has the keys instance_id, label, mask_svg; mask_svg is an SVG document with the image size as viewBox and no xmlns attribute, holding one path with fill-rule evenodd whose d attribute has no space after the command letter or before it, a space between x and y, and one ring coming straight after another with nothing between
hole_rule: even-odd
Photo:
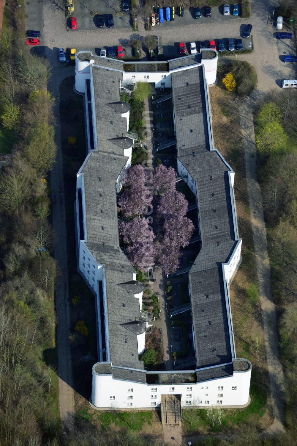
<instances>
[{"instance_id":1,"label":"wooded strip with bright green trees right of the pale footpath","mask_svg":"<svg viewBox=\"0 0 297 446\"><path fill-rule=\"evenodd\" d=\"M258 173L268 235L273 297L285 372L285 421L297 424L297 92L271 91L258 104Z\"/></svg>"}]
</instances>

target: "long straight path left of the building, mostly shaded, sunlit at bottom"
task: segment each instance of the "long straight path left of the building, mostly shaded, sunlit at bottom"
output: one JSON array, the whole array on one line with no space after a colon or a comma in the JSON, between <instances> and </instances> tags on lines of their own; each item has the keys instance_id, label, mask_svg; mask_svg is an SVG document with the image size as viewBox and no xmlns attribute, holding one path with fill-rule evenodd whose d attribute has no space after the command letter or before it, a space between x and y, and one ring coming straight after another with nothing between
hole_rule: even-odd
<instances>
[{"instance_id":1,"label":"long straight path left of the building, mostly shaded, sunlit at bottom","mask_svg":"<svg viewBox=\"0 0 297 446\"><path fill-rule=\"evenodd\" d=\"M56 98L59 97L60 83L64 78L70 75L73 75L73 67L64 68L53 75L48 85L48 90L53 96ZM51 172L51 193L53 202L53 230L56 234L55 259L60 272L60 281L57 283L55 289L59 409L62 421L62 432L67 433L73 429L74 390L71 351L68 339L70 333L70 308L59 100L57 100L54 111L55 116L57 117L55 141L58 149L57 162Z\"/></svg>"}]
</instances>

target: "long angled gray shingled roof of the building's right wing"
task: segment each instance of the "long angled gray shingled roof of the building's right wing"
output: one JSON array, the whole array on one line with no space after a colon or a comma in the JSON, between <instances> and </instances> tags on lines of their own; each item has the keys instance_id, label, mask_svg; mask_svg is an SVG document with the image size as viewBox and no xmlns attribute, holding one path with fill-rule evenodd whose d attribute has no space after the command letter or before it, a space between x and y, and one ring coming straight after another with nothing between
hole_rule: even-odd
<instances>
[{"instance_id":1,"label":"long angled gray shingled roof of the building's right wing","mask_svg":"<svg viewBox=\"0 0 297 446\"><path fill-rule=\"evenodd\" d=\"M173 73L171 82L178 157L197 188L202 248L189 282L197 367L207 367L232 358L221 266L235 246L229 169L210 151L202 67Z\"/></svg>"}]
</instances>

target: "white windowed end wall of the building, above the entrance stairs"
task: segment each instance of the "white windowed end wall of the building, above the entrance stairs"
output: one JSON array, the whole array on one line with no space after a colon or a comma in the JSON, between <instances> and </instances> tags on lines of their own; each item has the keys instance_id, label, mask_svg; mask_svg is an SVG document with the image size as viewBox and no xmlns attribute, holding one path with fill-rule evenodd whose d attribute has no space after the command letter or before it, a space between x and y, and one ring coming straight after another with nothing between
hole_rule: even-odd
<instances>
[{"instance_id":1,"label":"white windowed end wall of the building, above the entrance stairs","mask_svg":"<svg viewBox=\"0 0 297 446\"><path fill-rule=\"evenodd\" d=\"M150 408L155 407L151 405L152 402L156 403L156 406L160 405L162 394L172 393L182 395L182 406L186 405L186 401L195 401L198 406L207 405L206 401L209 401L209 405L217 405L217 401L222 401L222 406L240 406L248 403L251 368L247 372L234 372L233 376L201 383L148 385L114 380L112 375L98 375L94 371L95 365L91 402L96 407L125 409L131 407L127 403L132 403L132 407L135 408ZM232 390L232 386L236 387L236 390ZM223 390L219 390L218 387L223 387ZM174 390L171 390L172 388ZM128 392L128 389L133 389L133 392ZM223 396L218 396L218 393L222 393ZM110 399L110 396L114 396L114 399ZM129 396L133 398L128 398Z\"/></svg>"}]
</instances>

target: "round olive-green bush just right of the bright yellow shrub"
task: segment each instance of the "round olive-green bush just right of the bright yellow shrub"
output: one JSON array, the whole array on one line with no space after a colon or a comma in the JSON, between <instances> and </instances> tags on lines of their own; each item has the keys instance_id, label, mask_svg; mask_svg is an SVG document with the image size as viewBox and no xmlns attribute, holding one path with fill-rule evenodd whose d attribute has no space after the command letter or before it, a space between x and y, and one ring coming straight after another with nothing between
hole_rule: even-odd
<instances>
[{"instance_id":1,"label":"round olive-green bush just right of the bright yellow shrub","mask_svg":"<svg viewBox=\"0 0 297 446\"><path fill-rule=\"evenodd\" d=\"M236 93L239 96L248 96L257 86L255 68L248 62L232 62L231 71L236 80Z\"/></svg>"}]
</instances>

